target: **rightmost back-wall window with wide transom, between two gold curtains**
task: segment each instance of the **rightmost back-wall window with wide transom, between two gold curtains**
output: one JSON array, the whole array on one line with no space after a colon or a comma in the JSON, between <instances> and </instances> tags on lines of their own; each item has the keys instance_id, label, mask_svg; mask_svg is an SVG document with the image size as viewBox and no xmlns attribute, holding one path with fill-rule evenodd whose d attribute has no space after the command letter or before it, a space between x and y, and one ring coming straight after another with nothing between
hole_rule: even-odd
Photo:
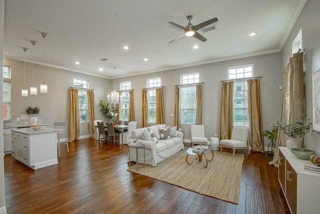
<instances>
[{"instance_id":1,"label":"rightmost back-wall window with wide transom, between two gold curtains","mask_svg":"<svg viewBox=\"0 0 320 214\"><path fill-rule=\"evenodd\" d=\"M253 76L253 65L228 68L228 79L248 78ZM249 126L247 83L245 80L233 84L233 126Z\"/></svg>"}]
</instances>

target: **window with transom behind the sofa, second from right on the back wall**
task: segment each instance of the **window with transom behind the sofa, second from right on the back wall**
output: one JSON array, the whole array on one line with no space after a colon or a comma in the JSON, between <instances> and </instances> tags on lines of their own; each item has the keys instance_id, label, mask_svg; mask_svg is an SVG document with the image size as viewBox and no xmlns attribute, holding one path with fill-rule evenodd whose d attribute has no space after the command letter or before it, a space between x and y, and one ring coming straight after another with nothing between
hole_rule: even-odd
<instances>
[{"instance_id":1,"label":"window with transom behind the sofa, second from right on the back wall","mask_svg":"<svg viewBox=\"0 0 320 214\"><path fill-rule=\"evenodd\" d=\"M199 82L199 73L182 74L181 85ZM195 86L180 88L180 120L182 124L195 124L196 95Z\"/></svg>"}]
</instances>

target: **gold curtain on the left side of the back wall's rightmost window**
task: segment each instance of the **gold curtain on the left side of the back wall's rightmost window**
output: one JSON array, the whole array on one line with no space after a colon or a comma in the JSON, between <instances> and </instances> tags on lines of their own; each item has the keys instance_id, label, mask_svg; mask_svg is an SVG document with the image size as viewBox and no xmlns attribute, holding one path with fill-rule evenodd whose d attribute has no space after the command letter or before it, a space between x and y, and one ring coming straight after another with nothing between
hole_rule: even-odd
<instances>
[{"instance_id":1,"label":"gold curtain on the left side of the back wall's rightmost window","mask_svg":"<svg viewBox=\"0 0 320 214\"><path fill-rule=\"evenodd\" d=\"M233 128L233 81L222 82L219 119L219 138L231 139Z\"/></svg>"}]
</instances>

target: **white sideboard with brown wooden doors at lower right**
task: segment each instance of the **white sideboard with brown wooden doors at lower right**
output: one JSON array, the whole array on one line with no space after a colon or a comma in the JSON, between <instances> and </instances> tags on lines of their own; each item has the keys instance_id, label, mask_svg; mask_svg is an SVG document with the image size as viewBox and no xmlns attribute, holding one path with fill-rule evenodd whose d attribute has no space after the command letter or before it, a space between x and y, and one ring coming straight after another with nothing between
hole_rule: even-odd
<instances>
[{"instance_id":1,"label":"white sideboard with brown wooden doors at lower right","mask_svg":"<svg viewBox=\"0 0 320 214\"><path fill-rule=\"evenodd\" d=\"M320 174L304 170L308 160L279 147L278 179L291 213L320 213Z\"/></svg>"}]
</instances>

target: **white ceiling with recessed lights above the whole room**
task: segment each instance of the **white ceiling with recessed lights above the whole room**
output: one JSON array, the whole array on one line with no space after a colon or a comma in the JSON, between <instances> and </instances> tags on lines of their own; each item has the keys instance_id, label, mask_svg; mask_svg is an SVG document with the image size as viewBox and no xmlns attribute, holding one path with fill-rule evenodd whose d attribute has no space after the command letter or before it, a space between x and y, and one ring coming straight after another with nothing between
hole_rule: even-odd
<instances>
[{"instance_id":1,"label":"white ceiling with recessed lights above the whole room","mask_svg":"<svg viewBox=\"0 0 320 214\"><path fill-rule=\"evenodd\" d=\"M281 50L303 0L6 0L3 54L101 77L130 76ZM182 38L186 26L217 17L216 30ZM293 22L293 23L292 23ZM40 33L47 33L42 39ZM249 37L251 32L257 32ZM128 45L129 50L123 50ZM193 45L199 48L194 50ZM101 62L99 59L108 61ZM143 59L148 58L147 62ZM74 62L79 61L80 65ZM98 69L103 68L101 72Z\"/></svg>"}]
</instances>

